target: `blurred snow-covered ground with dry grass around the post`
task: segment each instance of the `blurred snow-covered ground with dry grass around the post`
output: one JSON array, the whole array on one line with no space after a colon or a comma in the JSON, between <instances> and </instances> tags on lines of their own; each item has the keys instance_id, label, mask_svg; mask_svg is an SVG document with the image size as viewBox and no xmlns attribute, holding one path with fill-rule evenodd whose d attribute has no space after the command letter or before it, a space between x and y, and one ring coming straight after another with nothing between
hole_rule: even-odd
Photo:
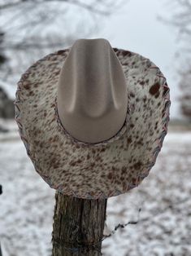
<instances>
[{"instance_id":1,"label":"blurred snow-covered ground with dry grass around the post","mask_svg":"<svg viewBox=\"0 0 191 256\"><path fill-rule=\"evenodd\" d=\"M138 188L108 200L106 256L191 255L191 131L169 132L157 164ZM0 135L3 256L50 256L54 190L33 170L15 131ZM139 209L141 209L139 213Z\"/></svg>"}]
</instances>

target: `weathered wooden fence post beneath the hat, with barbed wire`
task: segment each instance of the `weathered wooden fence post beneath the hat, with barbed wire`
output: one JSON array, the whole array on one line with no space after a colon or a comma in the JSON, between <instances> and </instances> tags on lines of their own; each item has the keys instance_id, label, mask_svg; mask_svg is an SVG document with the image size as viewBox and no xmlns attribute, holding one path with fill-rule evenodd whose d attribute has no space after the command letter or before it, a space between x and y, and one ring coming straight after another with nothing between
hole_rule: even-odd
<instances>
[{"instance_id":1,"label":"weathered wooden fence post beneath the hat, with barbed wire","mask_svg":"<svg viewBox=\"0 0 191 256\"><path fill-rule=\"evenodd\" d=\"M89 200L55 194L53 256L100 256L106 199Z\"/></svg>"}]
</instances>

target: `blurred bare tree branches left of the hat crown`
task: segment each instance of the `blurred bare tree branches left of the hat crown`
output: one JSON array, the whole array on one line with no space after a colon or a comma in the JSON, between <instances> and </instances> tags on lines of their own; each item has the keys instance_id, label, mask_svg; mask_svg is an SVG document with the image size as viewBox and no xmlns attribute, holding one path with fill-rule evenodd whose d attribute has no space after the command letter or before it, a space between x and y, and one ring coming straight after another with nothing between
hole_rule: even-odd
<instances>
[{"instance_id":1,"label":"blurred bare tree branches left of the hat crown","mask_svg":"<svg viewBox=\"0 0 191 256\"><path fill-rule=\"evenodd\" d=\"M50 51L89 38L102 16L114 13L124 0L0 0L0 53L7 56L2 79L23 73L28 65Z\"/></svg>"}]
</instances>

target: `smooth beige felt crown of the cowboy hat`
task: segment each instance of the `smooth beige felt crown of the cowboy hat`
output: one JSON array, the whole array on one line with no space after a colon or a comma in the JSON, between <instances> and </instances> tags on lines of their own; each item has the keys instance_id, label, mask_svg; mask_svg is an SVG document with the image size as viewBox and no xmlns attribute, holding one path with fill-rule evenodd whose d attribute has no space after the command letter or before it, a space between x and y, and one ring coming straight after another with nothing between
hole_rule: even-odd
<instances>
[{"instance_id":1,"label":"smooth beige felt crown of the cowboy hat","mask_svg":"<svg viewBox=\"0 0 191 256\"><path fill-rule=\"evenodd\" d=\"M114 136L128 108L124 70L106 39L79 39L59 76L58 112L67 132L86 143Z\"/></svg>"}]
</instances>

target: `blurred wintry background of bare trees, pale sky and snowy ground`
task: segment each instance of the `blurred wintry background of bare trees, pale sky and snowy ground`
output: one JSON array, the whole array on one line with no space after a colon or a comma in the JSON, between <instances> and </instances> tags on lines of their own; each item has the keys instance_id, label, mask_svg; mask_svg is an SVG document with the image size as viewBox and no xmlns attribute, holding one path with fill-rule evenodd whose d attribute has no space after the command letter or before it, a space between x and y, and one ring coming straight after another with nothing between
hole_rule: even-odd
<instances>
[{"instance_id":1,"label":"blurred wintry background of bare trees, pale sky and snowy ground","mask_svg":"<svg viewBox=\"0 0 191 256\"><path fill-rule=\"evenodd\" d=\"M108 201L104 255L191 255L191 1L0 0L0 243L3 256L50 255L54 191L34 172L14 121L16 82L77 38L106 38L156 64L171 90L169 133L139 188ZM141 213L137 214L141 208Z\"/></svg>"}]
</instances>

